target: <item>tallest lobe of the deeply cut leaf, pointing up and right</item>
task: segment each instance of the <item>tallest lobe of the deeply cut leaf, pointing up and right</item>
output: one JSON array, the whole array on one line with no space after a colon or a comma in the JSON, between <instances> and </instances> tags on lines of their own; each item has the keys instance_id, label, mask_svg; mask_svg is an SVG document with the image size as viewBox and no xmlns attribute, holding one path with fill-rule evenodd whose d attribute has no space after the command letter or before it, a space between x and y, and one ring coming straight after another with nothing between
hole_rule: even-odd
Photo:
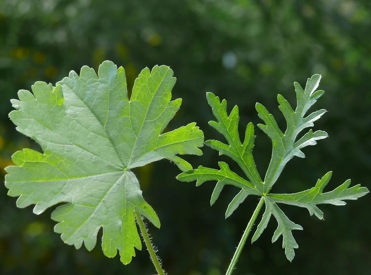
<instances>
[{"instance_id":1,"label":"tallest lobe of the deeply cut leaf, pointing up and right","mask_svg":"<svg viewBox=\"0 0 371 275\"><path fill-rule=\"evenodd\" d=\"M299 83L294 83L296 92L295 111L282 95L278 95L278 109L286 120L286 130L284 132L279 129L276 119L272 114L260 103L256 104L258 116L265 123L258 124L258 127L272 140L272 158L264 179L264 192L267 194L276 183L286 163L292 157L305 157L301 151L302 148L315 145L317 144L317 140L327 137L327 133L324 131L313 133L313 130L310 129L308 133L297 140L297 136L302 130L313 127L313 122L321 118L326 112L325 110L320 110L305 117L309 108L324 94L322 90L316 91L320 80L320 75L312 76L307 80L304 90Z\"/></svg>"}]
</instances>

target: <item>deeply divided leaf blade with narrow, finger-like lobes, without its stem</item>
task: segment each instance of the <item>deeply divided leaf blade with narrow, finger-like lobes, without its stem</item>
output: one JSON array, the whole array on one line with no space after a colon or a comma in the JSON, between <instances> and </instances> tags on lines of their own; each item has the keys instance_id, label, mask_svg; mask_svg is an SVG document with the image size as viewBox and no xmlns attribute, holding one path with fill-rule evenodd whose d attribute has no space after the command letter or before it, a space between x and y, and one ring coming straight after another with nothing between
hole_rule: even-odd
<instances>
[{"instance_id":1,"label":"deeply divided leaf blade with narrow, finger-like lobes, without its stem","mask_svg":"<svg viewBox=\"0 0 371 275\"><path fill-rule=\"evenodd\" d=\"M305 89L297 82L294 83L296 92L295 110L282 95L278 95L278 108L286 120L284 132L281 131L276 119L268 110L262 104L256 104L258 116L264 122L264 124L258 124L258 127L272 140L272 158L264 181L261 180L252 155L255 140L253 124L251 122L247 124L245 138L242 143L238 133L238 107L234 106L232 112L228 115L226 100L221 102L219 97L212 93L207 94L207 101L217 121L210 121L209 124L225 137L228 144L218 140L208 140L205 141L205 144L219 151L219 155L226 155L237 162L246 179L232 172L225 162L219 162L221 170L199 166L197 169L186 171L177 177L179 180L186 182L197 180L197 186L205 181L217 181L211 204L215 202L226 184L240 188L241 191L232 199L228 206L226 217L230 216L248 195L264 197L266 210L252 241L257 240L263 233L273 215L278 222L278 228L274 233L272 242L275 242L279 236L282 236L282 247L285 249L285 254L289 261L292 261L294 258L294 249L298 248L292 231L302 230L302 227L288 219L278 207L279 203L305 207L309 210L310 215L315 214L318 218L323 219L323 212L317 205L325 203L344 205L344 200L357 199L369 192L367 188L360 187L360 185L349 188L350 180L347 180L333 191L323 193L323 189L331 177L329 172L322 179L318 180L315 187L309 190L294 194L270 194L286 163L295 156L305 157L301 151L304 147L315 145L317 140L327 137L327 133L324 131L314 132L312 129L309 129L307 133L298 138L304 129L313 127L313 122L321 118L326 112L322 109L306 115L310 107L324 94L324 91L317 90L320 79L320 75L312 76L308 79Z\"/></svg>"}]
</instances>

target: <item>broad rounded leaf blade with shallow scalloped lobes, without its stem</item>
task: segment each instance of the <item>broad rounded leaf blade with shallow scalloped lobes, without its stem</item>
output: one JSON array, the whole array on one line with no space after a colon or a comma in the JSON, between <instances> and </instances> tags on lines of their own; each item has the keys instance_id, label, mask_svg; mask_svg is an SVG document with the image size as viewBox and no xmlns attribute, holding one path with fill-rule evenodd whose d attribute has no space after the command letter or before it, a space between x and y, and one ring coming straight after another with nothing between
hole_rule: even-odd
<instances>
[{"instance_id":1,"label":"broad rounded leaf blade with shallow scalloped lobes, without its stem","mask_svg":"<svg viewBox=\"0 0 371 275\"><path fill-rule=\"evenodd\" d=\"M141 249L135 211L160 227L131 170L167 158L186 171L191 165L177 155L202 154L195 123L162 133L181 105L171 101L175 81L167 66L145 68L129 100L124 69L105 61L98 75L84 66L80 76L71 71L55 87L36 82L33 94L20 90L9 117L44 153L13 155L8 195L19 196L18 207L35 204L36 214L62 203L52 219L64 242L91 250L102 228L104 255L119 250L128 264L134 247Z\"/></svg>"}]
</instances>

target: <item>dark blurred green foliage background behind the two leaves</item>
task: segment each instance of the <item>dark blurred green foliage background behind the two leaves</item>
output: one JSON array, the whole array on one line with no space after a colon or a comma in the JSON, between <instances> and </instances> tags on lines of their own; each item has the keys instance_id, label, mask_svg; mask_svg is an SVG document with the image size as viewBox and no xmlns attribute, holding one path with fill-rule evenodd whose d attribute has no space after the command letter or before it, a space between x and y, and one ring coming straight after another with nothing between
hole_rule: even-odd
<instances>
[{"instance_id":1,"label":"dark blurred green foliage background behind the two leaves","mask_svg":"<svg viewBox=\"0 0 371 275\"><path fill-rule=\"evenodd\" d=\"M37 80L55 83L83 65L97 69L106 59L126 69L129 86L139 71L155 64L173 68L175 98L181 111L169 128L196 121L206 139L221 138L207 125L212 113L205 92L240 108L242 126L259 122L254 105L263 103L278 119L277 93L293 102L293 81L322 74L325 96L316 105L328 113L316 123L329 138L294 158L275 191L312 187L333 170L329 188L352 178L370 186L371 167L371 1L370 0L1 0L0 1L0 165L24 147L38 148L15 131L7 118L9 99ZM230 109L230 110L231 110ZM281 124L282 125L282 124ZM209 148L187 157L194 166L234 163ZM254 148L263 175L270 140L257 130ZM224 274L242 235L255 198L230 217L224 212L238 192L226 188L217 203L209 199L215 183L196 188L177 182L177 167L160 161L136 171L146 200L156 209L161 230L150 226L164 268L170 275ZM92 252L63 244L53 233L51 210L36 216L17 209L15 198L0 188L1 275L150 275L147 251L138 251L125 267ZM290 264L281 238L271 244L272 220L263 236L247 243L235 275L371 274L371 196L346 207L323 206L325 221L307 210L283 206L304 231L295 231L300 248Z\"/></svg>"}]
</instances>

